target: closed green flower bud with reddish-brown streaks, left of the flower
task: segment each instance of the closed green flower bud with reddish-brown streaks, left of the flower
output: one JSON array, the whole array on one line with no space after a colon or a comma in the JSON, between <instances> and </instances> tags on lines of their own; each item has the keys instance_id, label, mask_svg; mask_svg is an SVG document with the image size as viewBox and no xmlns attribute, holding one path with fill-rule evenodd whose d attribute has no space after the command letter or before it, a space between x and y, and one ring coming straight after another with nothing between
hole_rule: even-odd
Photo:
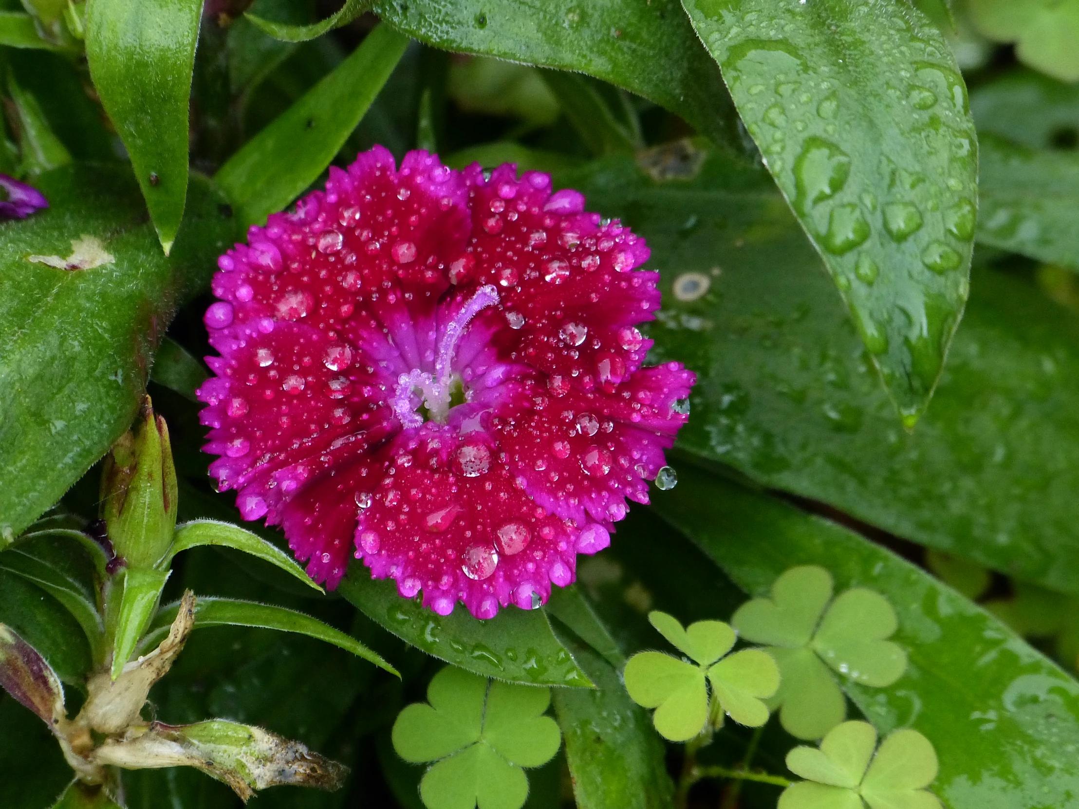
<instances>
[{"instance_id":1,"label":"closed green flower bud with reddish-brown streaks, left of the flower","mask_svg":"<svg viewBox=\"0 0 1079 809\"><path fill-rule=\"evenodd\" d=\"M112 445L101 472L101 519L117 556L150 567L168 550L176 527L176 467L165 420L146 398L128 430Z\"/></svg>"}]
</instances>

